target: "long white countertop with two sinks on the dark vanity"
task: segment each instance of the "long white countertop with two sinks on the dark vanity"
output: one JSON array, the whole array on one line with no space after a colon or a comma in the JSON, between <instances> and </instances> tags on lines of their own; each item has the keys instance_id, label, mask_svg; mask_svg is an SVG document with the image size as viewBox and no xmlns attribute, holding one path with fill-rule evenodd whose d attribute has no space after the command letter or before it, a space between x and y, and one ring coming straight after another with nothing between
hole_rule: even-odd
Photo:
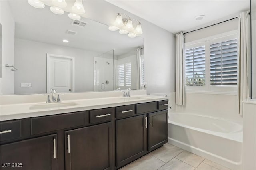
<instances>
[{"instance_id":1,"label":"long white countertop with two sinks on the dark vanity","mask_svg":"<svg viewBox=\"0 0 256 170\"><path fill-rule=\"evenodd\" d=\"M57 106L60 103L14 103L0 105L0 121L22 119L28 117L38 117L46 115L56 115L60 113L70 113L77 111L86 111L91 109L101 109L107 107L116 107L122 105L131 105L136 103L145 103L152 101L168 100L169 97L154 95L133 95L132 97L101 97L92 99L63 100L61 105L71 104L70 106ZM40 106L50 106L56 104L56 107L38 109ZM33 108L33 109L32 109Z\"/></svg>"}]
</instances>

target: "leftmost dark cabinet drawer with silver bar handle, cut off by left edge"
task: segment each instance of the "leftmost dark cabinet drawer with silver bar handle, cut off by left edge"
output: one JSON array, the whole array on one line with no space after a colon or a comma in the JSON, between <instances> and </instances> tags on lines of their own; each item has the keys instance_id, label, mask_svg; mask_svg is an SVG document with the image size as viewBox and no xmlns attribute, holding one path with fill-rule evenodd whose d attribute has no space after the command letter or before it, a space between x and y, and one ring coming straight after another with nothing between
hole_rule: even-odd
<instances>
[{"instance_id":1,"label":"leftmost dark cabinet drawer with silver bar handle, cut off by left edge","mask_svg":"<svg viewBox=\"0 0 256 170\"><path fill-rule=\"evenodd\" d=\"M21 137L21 120L6 121L0 123L0 139L11 140Z\"/></svg>"}]
</instances>

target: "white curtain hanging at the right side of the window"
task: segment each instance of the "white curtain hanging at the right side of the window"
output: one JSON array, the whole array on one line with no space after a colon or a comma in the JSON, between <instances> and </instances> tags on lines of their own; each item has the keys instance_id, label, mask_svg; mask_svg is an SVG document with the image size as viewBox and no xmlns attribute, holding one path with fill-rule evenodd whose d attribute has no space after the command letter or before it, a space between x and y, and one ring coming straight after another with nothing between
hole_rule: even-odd
<instances>
[{"instance_id":1,"label":"white curtain hanging at the right side of the window","mask_svg":"<svg viewBox=\"0 0 256 170\"><path fill-rule=\"evenodd\" d=\"M250 15L241 12L238 27L238 111L243 115L243 100L249 97L248 62L250 61Z\"/></svg>"}]
</instances>

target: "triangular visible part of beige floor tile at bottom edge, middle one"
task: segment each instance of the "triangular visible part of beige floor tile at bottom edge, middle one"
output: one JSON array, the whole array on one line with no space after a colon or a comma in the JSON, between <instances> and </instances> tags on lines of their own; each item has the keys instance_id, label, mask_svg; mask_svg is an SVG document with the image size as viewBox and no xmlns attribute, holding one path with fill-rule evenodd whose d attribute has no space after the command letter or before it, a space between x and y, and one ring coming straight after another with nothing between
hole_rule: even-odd
<instances>
[{"instance_id":1,"label":"triangular visible part of beige floor tile at bottom edge, middle one","mask_svg":"<svg viewBox=\"0 0 256 170\"><path fill-rule=\"evenodd\" d=\"M195 168L193 166L190 166L176 158L173 158L158 170L194 170L194 169Z\"/></svg>"}]
</instances>

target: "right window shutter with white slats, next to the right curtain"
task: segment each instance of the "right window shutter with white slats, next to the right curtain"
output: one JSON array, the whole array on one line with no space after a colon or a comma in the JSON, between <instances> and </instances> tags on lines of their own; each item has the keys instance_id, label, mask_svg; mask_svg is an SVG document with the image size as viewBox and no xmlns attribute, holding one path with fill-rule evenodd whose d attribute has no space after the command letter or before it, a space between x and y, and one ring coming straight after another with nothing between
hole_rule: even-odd
<instances>
[{"instance_id":1,"label":"right window shutter with white slats, next to the right curtain","mask_svg":"<svg viewBox=\"0 0 256 170\"><path fill-rule=\"evenodd\" d=\"M237 39L210 44L211 85L237 84Z\"/></svg>"}]
</instances>

